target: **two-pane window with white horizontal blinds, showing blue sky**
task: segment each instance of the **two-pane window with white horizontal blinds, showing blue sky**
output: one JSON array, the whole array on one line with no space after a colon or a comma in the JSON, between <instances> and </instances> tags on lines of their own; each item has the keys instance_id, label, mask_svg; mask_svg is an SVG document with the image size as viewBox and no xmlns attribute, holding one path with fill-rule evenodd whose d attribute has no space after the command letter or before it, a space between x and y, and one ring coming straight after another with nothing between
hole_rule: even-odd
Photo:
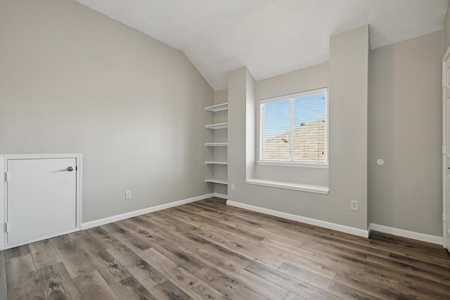
<instances>
[{"instance_id":1,"label":"two-pane window with white horizontal blinds, showing blue sky","mask_svg":"<svg viewBox=\"0 0 450 300\"><path fill-rule=\"evenodd\" d=\"M261 100L260 162L328 163L327 89Z\"/></svg>"}]
</instances>

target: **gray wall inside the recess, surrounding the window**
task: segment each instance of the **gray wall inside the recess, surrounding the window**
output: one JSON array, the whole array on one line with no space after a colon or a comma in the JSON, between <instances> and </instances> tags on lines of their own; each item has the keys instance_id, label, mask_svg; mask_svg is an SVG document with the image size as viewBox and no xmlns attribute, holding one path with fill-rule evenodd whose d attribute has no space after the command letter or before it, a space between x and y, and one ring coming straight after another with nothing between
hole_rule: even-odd
<instances>
[{"instance_id":1,"label":"gray wall inside the recess, surrounding the window","mask_svg":"<svg viewBox=\"0 0 450 300\"><path fill-rule=\"evenodd\" d=\"M328 88L328 62L256 81L256 157L259 157L259 102L267 98ZM328 186L328 169L277 167L255 164L255 178Z\"/></svg>"}]
</instances>

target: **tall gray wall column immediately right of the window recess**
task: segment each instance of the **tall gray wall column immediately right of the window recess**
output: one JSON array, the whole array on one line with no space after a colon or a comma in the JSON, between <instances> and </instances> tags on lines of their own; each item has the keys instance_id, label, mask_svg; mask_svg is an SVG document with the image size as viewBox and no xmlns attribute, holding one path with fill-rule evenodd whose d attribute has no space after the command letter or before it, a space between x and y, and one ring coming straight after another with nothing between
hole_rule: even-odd
<instances>
[{"instance_id":1,"label":"tall gray wall column immediately right of the window recess","mask_svg":"<svg viewBox=\"0 0 450 300\"><path fill-rule=\"evenodd\" d=\"M368 25L330 37L330 198L351 219L367 228ZM350 211L350 201L359 211Z\"/></svg>"}]
</instances>

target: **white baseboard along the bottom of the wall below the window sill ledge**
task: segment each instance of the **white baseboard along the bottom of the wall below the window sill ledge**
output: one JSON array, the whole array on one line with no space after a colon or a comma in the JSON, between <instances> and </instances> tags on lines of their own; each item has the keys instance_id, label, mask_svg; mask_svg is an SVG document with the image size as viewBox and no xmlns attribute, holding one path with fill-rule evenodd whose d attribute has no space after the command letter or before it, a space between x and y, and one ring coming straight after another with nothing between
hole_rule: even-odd
<instances>
[{"instance_id":1,"label":"white baseboard along the bottom of the wall below the window sill ledge","mask_svg":"<svg viewBox=\"0 0 450 300\"><path fill-rule=\"evenodd\" d=\"M327 221L311 219L311 218L307 218L305 216L297 216L295 214L288 214L283 211L275 211L272 209L265 209L263 207L255 207L253 205L243 204L240 202L234 202L234 201L230 201L230 200L226 201L226 204L230 205L232 207L239 207L241 209L257 211L262 214L269 214L270 216L278 216L283 219L288 219L288 220L293 220L293 221L297 221L297 222L301 222L301 223L307 223L309 225L333 229L333 230L340 231L342 233L349 233L351 235L357 235L359 237L368 237L368 230L365 230L365 229L359 229L359 228L340 225L340 224L331 223L331 222L327 222Z\"/></svg>"}]
</instances>

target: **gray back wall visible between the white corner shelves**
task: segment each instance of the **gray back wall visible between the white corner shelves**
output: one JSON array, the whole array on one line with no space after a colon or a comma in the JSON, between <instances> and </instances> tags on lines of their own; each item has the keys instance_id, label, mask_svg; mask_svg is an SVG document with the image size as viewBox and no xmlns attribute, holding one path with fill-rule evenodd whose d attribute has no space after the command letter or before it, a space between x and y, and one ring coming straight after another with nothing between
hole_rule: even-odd
<instances>
[{"instance_id":1,"label":"gray back wall visible between the white corner shelves","mask_svg":"<svg viewBox=\"0 0 450 300\"><path fill-rule=\"evenodd\" d=\"M214 91L214 104L222 104L228 102L228 90L223 89L220 91ZM228 110L222 110L221 112L212 112L214 114L214 124L228 123ZM215 142L226 142L228 141L228 130L219 129L214 130L214 141ZM228 148L227 147L213 147L210 149L213 153L214 160L218 162L228 161ZM225 165L211 166L214 169L214 178L224 179L228 178L228 168ZM214 184L214 193L227 195L227 186L223 184Z\"/></svg>"}]
</instances>

